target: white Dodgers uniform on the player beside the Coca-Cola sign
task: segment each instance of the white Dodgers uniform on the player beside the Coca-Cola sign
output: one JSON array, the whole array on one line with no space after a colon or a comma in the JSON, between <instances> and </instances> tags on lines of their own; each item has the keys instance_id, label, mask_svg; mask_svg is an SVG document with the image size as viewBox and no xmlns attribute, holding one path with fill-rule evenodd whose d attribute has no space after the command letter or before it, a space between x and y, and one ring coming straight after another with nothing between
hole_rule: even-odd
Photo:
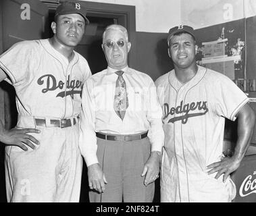
<instances>
[{"instance_id":1,"label":"white Dodgers uniform on the player beside the Coca-Cola sign","mask_svg":"<svg viewBox=\"0 0 256 216\"><path fill-rule=\"evenodd\" d=\"M228 77L198 65L182 84L174 70L157 79L165 144L161 161L161 202L228 202L236 188L223 175L207 174L220 161L225 118L232 121L249 101Z\"/></svg>"}]
</instances>

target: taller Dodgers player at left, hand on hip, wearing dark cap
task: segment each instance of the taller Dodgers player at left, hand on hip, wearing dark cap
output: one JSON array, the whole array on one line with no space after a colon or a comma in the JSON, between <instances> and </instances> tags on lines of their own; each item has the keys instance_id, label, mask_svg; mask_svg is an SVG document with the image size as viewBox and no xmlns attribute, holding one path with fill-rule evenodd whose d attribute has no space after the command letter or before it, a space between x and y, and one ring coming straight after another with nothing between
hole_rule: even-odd
<instances>
[{"instance_id":1,"label":"taller Dodgers player at left, hand on hip, wearing dark cap","mask_svg":"<svg viewBox=\"0 0 256 216\"><path fill-rule=\"evenodd\" d=\"M18 123L0 125L8 202L78 202L82 158L78 148L80 93L91 70L74 51L88 24L86 9L57 7L45 40L17 43L0 57L0 80L16 89Z\"/></svg>"}]
</instances>

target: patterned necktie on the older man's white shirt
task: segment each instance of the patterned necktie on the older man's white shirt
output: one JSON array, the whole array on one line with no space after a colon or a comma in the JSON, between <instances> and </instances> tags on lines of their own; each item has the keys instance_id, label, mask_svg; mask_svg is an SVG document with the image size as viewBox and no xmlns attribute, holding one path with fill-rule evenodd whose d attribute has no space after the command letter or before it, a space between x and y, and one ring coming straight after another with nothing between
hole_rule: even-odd
<instances>
[{"instance_id":1,"label":"patterned necktie on the older man's white shirt","mask_svg":"<svg viewBox=\"0 0 256 216\"><path fill-rule=\"evenodd\" d=\"M128 108L128 97L126 92L126 82L124 81L122 70L116 72L118 79L116 80L116 92L113 99L113 109L115 109L118 116L123 120Z\"/></svg>"}]
</instances>

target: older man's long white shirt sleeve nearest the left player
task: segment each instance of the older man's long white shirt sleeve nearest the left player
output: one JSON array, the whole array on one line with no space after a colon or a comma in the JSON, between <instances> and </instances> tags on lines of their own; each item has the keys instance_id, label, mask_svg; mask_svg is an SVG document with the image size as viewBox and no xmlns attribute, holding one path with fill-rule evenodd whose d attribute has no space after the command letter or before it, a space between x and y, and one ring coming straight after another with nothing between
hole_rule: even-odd
<instances>
[{"instance_id":1,"label":"older man's long white shirt sleeve nearest the left player","mask_svg":"<svg viewBox=\"0 0 256 216\"><path fill-rule=\"evenodd\" d=\"M82 88L82 113L80 118L79 147L87 167L98 163L95 134L95 99L93 81L87 80Z\"/></svg>"}]
</instances>

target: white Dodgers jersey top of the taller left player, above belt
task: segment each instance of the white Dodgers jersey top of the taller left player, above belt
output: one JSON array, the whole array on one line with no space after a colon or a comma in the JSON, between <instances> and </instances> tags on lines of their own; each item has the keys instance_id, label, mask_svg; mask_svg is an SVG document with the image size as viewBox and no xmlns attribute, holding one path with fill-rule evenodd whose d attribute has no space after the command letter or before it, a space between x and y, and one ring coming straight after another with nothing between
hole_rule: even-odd
<instances>
[{"instance_id":1,"label":"white Dodgers jersey top of the taller left player, above belt","mask_svg":"<svg viewBox=\"0 0 256 216\"><path fill-rule=\"evenodd\" d=\"M65 118L80 113L82 84L91 70L76 51L69 62L49 39L22 41L0 56L0 67L16 89L19 115Z\"/></svg>"}]
</instances>

